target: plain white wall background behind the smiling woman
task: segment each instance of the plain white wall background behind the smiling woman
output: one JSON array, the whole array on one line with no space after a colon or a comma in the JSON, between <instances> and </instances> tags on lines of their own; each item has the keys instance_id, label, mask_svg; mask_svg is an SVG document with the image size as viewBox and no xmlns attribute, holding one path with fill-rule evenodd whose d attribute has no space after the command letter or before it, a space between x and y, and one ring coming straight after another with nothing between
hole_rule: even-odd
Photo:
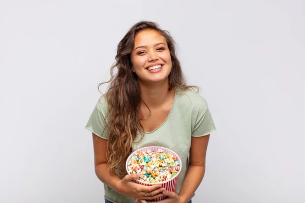
<instances>
[{"instance_id":1,"label":"plain white wall background behind the smiling woman","mask_svg":"<svg viewBox=\"0 0 305 203\"><path fill-rule=\"evenodd\" d=\"M171 32L218 129L193 202L304 202L304 9L291 0L1 1L0 202L103 202L84 126L139 20Z\"/></svg>"}]
</instances>

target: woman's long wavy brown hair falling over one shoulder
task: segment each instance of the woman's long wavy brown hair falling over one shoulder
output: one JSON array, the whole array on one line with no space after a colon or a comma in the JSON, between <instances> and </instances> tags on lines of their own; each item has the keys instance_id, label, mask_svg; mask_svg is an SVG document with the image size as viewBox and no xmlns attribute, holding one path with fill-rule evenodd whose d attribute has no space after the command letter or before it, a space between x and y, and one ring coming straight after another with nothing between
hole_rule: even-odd
<instances>
[{"instance_id":1,"label":"woman's long wavy brown hair falling over one shoulder","mask_svg":"<svg viewBox=\"0 0 305 203\"><path fill-rule=\"evenodd\" d=\"M141 114L140 87L137 75L131 70L131 51L134 40L137 33L144 29L154 29L166 39L172 60L172 69L168 76L169 90L176 87L199 90L197 86L186 84L180 62L176 56L176 43L168 31L150 21L140 21L129 29L117 46L116 62L110 68L110 80L99 84L100 87L102 84L109 83L106 91L108 113L107 119L105 119L108 121L106 125L109 139L107 145L108 170L119 177L127 174L125 163L132 153L132 144L137 134L141 133L140 141L144 136L144 129L140 124L139 117Z\"/></svg>"}]
</instances>

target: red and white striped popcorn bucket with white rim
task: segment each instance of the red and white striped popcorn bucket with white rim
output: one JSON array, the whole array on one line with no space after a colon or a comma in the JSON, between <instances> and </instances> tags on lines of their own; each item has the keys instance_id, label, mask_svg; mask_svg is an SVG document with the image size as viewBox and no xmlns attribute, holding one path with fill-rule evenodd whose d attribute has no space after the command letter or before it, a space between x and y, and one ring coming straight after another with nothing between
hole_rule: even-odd
<instances>
[{"instance_id":1,"label":"red and white striped popcorn bucket with white rim","mask_svg":"<svg viewBox=\"0 0 305 203\"><path fill-rule=\"evenodd\" d=\"M178 173L174 177L172 177L171 179L166 180L166 181L162 181L160 183L147 183L147 182L144 182L144 181L140 181L138 179L133 180L133 182L135 182L137 184L145 185L145 186L161 185L161 187L166 188L166 190L168 190L168 191L176 192L176 190L177 190L177 183L178 183L178 175L180 174L180 171L181 171L181 168L182 168L182 162L181 162L180 157L175 152L171 151L170 149L167 149L167 148L164 148L164 147L152 146L152 147L143 147L141 149L138 149L138 150L134 151L128 157L128 159L126 161L126 170L127 170L127 173L130 174L128 172L128 163L130 162L131 158L136 155L136 153L145 152L147 150L157 152L158 149L162 149L163 152L168 153L170 155L177 156L177 158L178 158L177 161L179 161L179 163L180 163L180 165L179 165L180 170L178 171ZM163 199L165 199L165 195L163 195L161 197L158 197L156 199L150 200L150 201L160 201L160 200L163 200ZM134 202L135 203L140 203L140 201L137 198L134 198Z\"/></svg>"}]
</instances>

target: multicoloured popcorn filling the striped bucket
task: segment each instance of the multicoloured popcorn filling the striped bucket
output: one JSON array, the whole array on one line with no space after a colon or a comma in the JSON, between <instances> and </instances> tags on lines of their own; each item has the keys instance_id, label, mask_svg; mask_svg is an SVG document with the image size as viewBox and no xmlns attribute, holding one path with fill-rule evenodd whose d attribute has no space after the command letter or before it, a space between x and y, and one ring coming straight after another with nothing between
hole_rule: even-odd
<instances>
[{"instance_id":1,"label":"multicoloured popcorn filling the striped bucket","mask_svg":"<svg viewBox=\"0 0 305 203\"><path fill-rule=\"evenodd\" d=\"M162 149L157 152L147 150L136 153L128 163L130 174L140 173L140 181L160 183L174 177L180 170L177 156L165 153Z\"/></svg>"}]
</instances>

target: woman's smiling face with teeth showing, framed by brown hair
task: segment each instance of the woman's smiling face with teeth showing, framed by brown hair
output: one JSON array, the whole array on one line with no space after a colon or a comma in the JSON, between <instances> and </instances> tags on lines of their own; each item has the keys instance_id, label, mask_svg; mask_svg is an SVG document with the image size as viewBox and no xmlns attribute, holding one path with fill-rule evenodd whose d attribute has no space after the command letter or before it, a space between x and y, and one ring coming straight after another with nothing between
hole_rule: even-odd
<instances>
[{"instance_id":1,"label":"woman's smiling face with teeth showing, framed by brown hair","mask_svg":"<svg viewBox=\"0 0 305 203\"><path fill-rule=\"evenodd\" d=\"M172 63L165 38L154 29L137 33L131 51L132 71L139 81L160 82L168 80Z\"/></svg>"}]
</instances>

